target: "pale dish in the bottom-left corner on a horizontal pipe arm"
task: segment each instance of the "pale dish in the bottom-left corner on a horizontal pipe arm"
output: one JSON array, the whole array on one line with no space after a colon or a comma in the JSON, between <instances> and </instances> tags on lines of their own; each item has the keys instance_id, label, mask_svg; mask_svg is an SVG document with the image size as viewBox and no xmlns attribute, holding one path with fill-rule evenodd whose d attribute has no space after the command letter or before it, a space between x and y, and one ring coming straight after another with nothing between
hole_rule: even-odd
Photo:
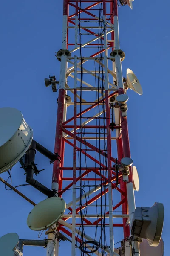
<instances>
[{"instance_id":1,"label":"pale dish in the bottom-left corner on a horizontal pipe arm","mask_svg":"<svg viewBox=\"0 0 170 256\"><path fill-rule=\"evenodd\" d=\"M19 242L16 233L8 233L0 238L0 255L14 256L14 250Z\"/></svg>"}]
</instances>

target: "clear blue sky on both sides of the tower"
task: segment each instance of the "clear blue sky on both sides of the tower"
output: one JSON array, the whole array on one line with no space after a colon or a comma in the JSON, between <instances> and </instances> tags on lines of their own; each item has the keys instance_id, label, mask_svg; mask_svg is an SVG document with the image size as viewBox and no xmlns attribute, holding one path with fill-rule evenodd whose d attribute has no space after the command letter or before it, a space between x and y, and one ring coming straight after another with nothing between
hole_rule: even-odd
<instances>
[{"instance_id":1,"label":"clear blue sky on both sides of the tower","mask_svg":"<svg viewBox=\"0 0 170 256\"><path fill-rule=\"evenodd\" d=\"M133 11L128 6L119 8L120 47L126 54L122 69L124 76L127 68L132 69L143 87L143 96L128 91L130 148L140 179L136 206L150 207L156 201L164 204L164 256L169 256L170 3L144 3L135 0ZM53 73L59 78L60 66L54 52L61 49L62 1L6 0L0 7L0 107L22 111L34 130L34 139L53 151L57 96L45 88L44 78ZM40 169L45 166L37 179L50 188L52 166L40 154L37 163ZM8 175L1 177L6 179ZM12 169L12 185L23 183L25 175L17 164ZM45 199L33 188L22 187L20 191L35 203ZM21 239L37 239L38 233L26 224L31 204L15 192L6 191L3 183L0 193L0 236L16 232ZM42 248L24 247L24 256L30 253L45 256Z\"/></svg>"}]
</instances>

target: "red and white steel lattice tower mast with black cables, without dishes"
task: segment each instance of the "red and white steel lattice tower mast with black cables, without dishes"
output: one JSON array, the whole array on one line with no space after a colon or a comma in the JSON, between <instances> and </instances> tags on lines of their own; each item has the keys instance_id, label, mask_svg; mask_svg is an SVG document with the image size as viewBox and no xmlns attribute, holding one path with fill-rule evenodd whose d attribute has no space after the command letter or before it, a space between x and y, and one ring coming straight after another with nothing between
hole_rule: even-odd
<instances>
[{"instance_id":1,"label":"red and white steel lattice tower mast with black cables, without dishes","mask_svg":"<svg viewBox=\"0 0 170 256\"><path fill-rule=\"evenodd\" d=\"M86 255L86 251L116 255L114 236L130 236L135 210L127 112L125 108L122 114L116 101L126 93L118 3L63 2L55 139L61 163L54 161L52 189L66 201L67 210L58 230L71 237L71 256ZM121 165L125 157L127 166ZM48 239L54 239L52 233ZM139 256L138 241L134 247L134 255ZM59 242L55 255L63 255Z\"/></svg>"}]
</instances>

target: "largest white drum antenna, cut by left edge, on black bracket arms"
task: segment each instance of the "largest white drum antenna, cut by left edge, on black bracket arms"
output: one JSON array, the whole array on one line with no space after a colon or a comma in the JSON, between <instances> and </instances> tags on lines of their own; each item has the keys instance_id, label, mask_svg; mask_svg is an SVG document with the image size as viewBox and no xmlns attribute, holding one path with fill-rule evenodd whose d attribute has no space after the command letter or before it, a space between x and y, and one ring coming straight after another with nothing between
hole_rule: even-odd
<instances>
[{"instance_id":1,"label":"largest white drum antenna, cut by left edge, on black bracket arms","mask_svg":"<svg viewBox=\"0 0 170 256\"><path fill-rule=\"evenodd\" d=\"M0 173L14 166L26 153L33 131L15 108L0 108Z\"/></svg>"}]
</instances>

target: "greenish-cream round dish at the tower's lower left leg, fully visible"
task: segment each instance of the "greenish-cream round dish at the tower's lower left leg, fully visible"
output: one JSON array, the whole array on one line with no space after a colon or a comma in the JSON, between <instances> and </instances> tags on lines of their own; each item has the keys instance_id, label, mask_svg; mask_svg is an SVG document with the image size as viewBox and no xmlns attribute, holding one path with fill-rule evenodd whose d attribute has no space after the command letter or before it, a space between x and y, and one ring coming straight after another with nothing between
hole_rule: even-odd
<instances>
[{"instance_id":1,"label":"greenish-cream round dish at the tower's lower left leg, fully visible","mask_svg":"<svg viewBox=\"0 0 170 256\"><path fill-rule=\"evenodd\" d=\"M27 225L31 230L46 230L62 217L65 209L66 204L62 198L47 198L37 204L29 213Z\"/></svg>"}]
</instances>

